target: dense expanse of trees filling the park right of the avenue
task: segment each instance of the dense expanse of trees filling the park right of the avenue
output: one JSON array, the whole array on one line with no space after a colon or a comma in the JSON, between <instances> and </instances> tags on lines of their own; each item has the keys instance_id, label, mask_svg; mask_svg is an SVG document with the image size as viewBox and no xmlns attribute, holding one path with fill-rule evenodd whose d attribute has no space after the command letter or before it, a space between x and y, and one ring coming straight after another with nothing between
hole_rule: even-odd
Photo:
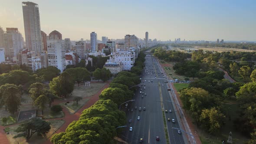
<instances>
[{"instance_id":1,"label":"dense expanse of trees filling the park right of the avenue","mask_svg":"<svg viewBox=\"0 0 256 144\"><path fill-rule=\"evenodd\" d=\"M232 131L235 143L256 141L256 70L254 52L210 52L198 50L190 54L167 51L162 47L151 51L164 62L175 62L177 75L196 78L180 91L184 109L200 128L205 144L227 140ZM179 58L176 58L178 56ZM187 60L191 59L191 60ZM224 79L226 70L239 82ZM236 79L237 80L237 79ZM209 138L211 137L211 138ZM251 138L249 140L249 138Z\"/></svg>"}]
</instances>

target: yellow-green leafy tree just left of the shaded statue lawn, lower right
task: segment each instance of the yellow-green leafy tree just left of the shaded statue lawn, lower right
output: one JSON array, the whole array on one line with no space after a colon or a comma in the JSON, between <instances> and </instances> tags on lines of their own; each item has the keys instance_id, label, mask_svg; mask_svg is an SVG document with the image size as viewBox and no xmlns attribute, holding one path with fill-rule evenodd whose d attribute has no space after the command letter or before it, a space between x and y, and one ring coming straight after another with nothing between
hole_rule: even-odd
<instances>
[{"instance_id":1,"label":"yellow-green leafy tree just left of the shaded statue lawn, lower right","mask_svg":"<svg viewBox=\"0 0 256 144\"><path fill-rule=\"evenodd\" d=\"M223 125L225 116L216 108L203 109L200 121L204 129L210 134L217 134Z\"/></svg>"}]
</instances>

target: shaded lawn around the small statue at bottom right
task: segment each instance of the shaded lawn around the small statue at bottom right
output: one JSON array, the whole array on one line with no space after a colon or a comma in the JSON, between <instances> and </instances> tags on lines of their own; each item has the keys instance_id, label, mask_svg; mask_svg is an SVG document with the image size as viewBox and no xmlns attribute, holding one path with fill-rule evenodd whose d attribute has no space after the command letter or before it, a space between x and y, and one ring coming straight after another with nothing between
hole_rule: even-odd
<instances>
[{"instance_id":1,"label":"shaded lawn around the small statue at bottom right","mask_svg":"<svg viewBox=\"0 0 256 144\"><path fill-rule=\"evenodd\" d=\"M206 133L205 131L202 132L200 139L202 144L214 144L218 143L221 144L221 140L227 140L230 131L232 132L232 141L233 144L244 144L249 139L243 136L239 131L237 131L233 126L233 121L236 118L239 118L239 104L236 101L226 100L224 101L224 115L225 118L225 125L220 130L220 134L217 136L210 136L210 134ZM229 118L230 115L230 118Z\"/></svg>"}]
</instances>

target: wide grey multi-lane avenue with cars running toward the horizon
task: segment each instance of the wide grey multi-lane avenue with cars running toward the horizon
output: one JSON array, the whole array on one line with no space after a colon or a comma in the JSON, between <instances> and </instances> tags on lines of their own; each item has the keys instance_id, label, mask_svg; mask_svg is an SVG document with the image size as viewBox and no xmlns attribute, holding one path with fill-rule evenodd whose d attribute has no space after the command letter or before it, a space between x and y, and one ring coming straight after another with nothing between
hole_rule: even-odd
<instances>
[{"instance_id":1,"label":"wide grey multi-lane avenue with cars running toward the horizon","mask_svg":"<svg viewBox=\"0 0 256 144\"><path fill-rule=\"evenodd\" d=\"M170 102L171 97L167 91L167 83L164 82L167 80L162 75L153 56L147 55L145 59L140 88L135 92L133 98L135 101L128 102L127 108L122 108L126 112L128 121L131 119L131 123L127 121L127 127L124 128L121 137L128 144L138 144L141 138L143 144L166 144L164 131L164 121L166 121L170 143L184 144L182 133L178 134L177 130L173 129L180 128L180 122L177 121L174 104ZM143 110L144 107L145 111ZM162 111L165 110L167 113L165 113L163 120ZM138 116L140 120L138 120ZM167 118L174 119L175 123L167 121ZM130 127L132 127L132 131L130 131ZM159 137L160 140L157 141L156 137Z\"/></svg>"}]
</instances>

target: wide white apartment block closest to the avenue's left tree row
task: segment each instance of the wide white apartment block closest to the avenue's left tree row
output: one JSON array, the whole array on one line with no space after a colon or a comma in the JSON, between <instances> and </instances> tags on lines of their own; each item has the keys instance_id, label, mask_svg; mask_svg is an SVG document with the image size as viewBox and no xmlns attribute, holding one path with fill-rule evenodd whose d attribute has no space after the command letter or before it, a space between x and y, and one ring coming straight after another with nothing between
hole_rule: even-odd
<instances>
[{"instance_id":1,"label":"wide white apartment block closest to the avenue's left tree row","mask_svg":"<svg viewBox=\"0 0 256 144\"><path fill-rule=\"evenodd\" d=\"M135 52L117 51L110 56L110 61L123 64L123 70L130 71L135 63Z\"/></svg>"}]
</instances>

